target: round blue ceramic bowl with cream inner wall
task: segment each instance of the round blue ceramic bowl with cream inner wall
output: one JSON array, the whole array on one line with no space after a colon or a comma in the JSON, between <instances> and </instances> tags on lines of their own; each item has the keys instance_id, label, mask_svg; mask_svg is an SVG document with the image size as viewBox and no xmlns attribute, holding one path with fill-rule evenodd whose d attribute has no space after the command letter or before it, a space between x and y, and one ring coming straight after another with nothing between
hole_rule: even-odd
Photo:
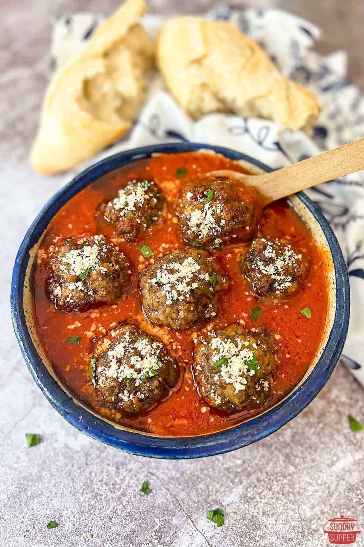
<instances>
[{"instance_id":1,"label":"round blue ceramic bowl with cream inner wall","mask_svg":"<svg viewBox=\"0 0 364 547\"><path fill-rule=\"evenodd\" d=\"M27 231L17 253L11 284L11 313L17 340L28 369L45 397L65 420L90 437L139 456L199 458L236 450L273 433L312 401L329 379L340 357L349 322L349 281L335 235L308 197L291 196L293 205L310 226L319 245L327 248L330 274L329 313L321 347L305 377L282 401L264 414L219 433L199 437L157 437L126 429L104 420L78 400L51 368L35 329L32 307L34 258L44 231L59 209L89 183L117 167L148 158L153 153L211 149L232 160L241 160L255 172L270 172L259 161L227 148L195 143L160 144L116 154L89 167L52 197Z\"/></svg>"}]
</instances>

